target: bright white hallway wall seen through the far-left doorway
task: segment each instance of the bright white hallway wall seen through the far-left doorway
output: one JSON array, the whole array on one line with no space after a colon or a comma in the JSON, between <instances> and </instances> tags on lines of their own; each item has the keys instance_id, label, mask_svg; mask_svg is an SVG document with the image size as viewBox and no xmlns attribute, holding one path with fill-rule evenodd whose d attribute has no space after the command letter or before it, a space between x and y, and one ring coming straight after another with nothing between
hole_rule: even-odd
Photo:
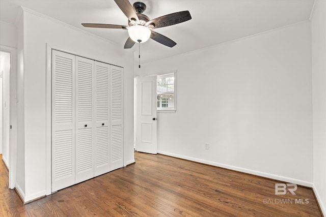
<instances>
[{"instance_id":1,"label":"bright white hallway wall seen through the far-left doorway","mask_svg":"<svg viewBox=\"0 0 326 217\"><path fill-rule=\"evenodd\" d=\"M9 168L9 131L10 131L10 53L0 52L0 72L3 72L3 156L2 159Z\"/></svg>"}]
</instances>

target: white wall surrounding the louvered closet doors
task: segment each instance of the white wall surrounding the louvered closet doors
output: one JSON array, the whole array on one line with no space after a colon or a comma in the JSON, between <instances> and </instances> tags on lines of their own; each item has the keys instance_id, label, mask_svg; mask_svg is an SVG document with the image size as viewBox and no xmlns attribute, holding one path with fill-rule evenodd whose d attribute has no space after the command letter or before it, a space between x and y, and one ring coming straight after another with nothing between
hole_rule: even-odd
<instances>
[{"instance_id":1,"label":"white wall surrounding the louvered closet doors","mask_svg":"<svg viewBox=\"0 0 326 217\"><path fill-rule=\"evenodd\" d=\"M46 44L124 67L124 164L133 158L133 53L41 14L23 12L25 201L46 194Z\"/></svg>"}]
</instances>

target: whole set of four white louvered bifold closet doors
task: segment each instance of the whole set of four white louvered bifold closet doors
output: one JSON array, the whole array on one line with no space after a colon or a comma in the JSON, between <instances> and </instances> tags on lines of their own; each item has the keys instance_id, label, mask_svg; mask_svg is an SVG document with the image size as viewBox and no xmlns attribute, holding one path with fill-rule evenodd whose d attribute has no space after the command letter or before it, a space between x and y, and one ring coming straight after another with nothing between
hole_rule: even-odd
<instances>
[{"instance_id":1,"label":"whole set of four white louvered bifold closet doors","mask_svg":"<svg viewBox=\"0 0 326 217\"><path fill-rule=\"evenodd\" d=\"M123 167L123 68L52 50L52 192Z\"/></svg>"}]
</instances>

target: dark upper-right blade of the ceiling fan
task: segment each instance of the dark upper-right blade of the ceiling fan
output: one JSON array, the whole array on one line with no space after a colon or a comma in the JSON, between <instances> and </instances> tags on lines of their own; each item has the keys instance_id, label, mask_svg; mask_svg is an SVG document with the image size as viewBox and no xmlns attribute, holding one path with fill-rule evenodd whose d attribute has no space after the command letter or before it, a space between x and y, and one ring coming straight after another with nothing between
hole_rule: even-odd
<instances>
[{"instance_id":1,"label":"dark upper-right blade of the ceiling fan","mask_svg":"<svg viewBox=\"0 0 326 217\"><path fill-rule=\"evenodd\" d=\"M160 28L185 22L190 19L192 19L192 16L189 11L180 11L152 19L146 23L146 26L153 24L154 27L151 28Z\"/></svg>"}]
</instances>

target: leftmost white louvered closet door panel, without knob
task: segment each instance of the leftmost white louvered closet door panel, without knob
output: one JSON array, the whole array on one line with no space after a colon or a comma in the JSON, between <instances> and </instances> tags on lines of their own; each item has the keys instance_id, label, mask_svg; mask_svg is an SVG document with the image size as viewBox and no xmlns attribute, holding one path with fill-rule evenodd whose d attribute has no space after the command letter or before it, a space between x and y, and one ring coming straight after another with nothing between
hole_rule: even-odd
<instances>
[{"instance_id":1,"label":"leftmost white louvered closet door panel, without knob","mask_svg":"<svg viewBox=\"0 0 326 217\"><path fill-rule=\"evenodd\" d=\"M52 50L52 192L75 183L75 56Z\"/></svg>"}]
</instances>

